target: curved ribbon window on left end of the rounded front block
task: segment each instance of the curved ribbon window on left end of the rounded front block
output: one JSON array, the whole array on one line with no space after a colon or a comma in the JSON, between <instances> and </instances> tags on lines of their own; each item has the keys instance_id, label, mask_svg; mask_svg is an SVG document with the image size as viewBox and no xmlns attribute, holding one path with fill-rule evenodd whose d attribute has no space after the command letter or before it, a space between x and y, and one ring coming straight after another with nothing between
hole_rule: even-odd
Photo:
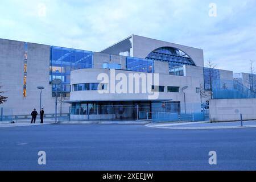
<instances>
[{"instance_id":1,"label":"curved ribbon window on left end of the rounded front block","mask_svg":"<svg viewBox=\"0 0 256 182\"><path fill-rule=\"evenodd\" d=\"M108 84L99 84L99 83L87 83L87 84L73 85L73 91L106 90L107 88L108 88Z\"/></svg>"}]
</instances>

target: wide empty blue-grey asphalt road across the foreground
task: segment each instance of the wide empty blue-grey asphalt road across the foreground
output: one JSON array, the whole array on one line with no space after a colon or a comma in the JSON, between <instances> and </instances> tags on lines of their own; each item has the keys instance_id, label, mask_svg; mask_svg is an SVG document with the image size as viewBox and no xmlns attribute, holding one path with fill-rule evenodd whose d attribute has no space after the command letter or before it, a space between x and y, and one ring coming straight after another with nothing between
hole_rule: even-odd
<instances>
[{"instance_id":1,"label":"wide empty blue-grey asphalt road across the foreground","mask_svg":"<svg viewBox=\"0 0 256 182\"><path fill-rule=\"evenodd\" d=\"M46 165L38 152L46 152ZM209 165L209 151L217 165ZM0 170L256 170L256 129L143 125L0 128Z\"/></svg>"}]
</instances>

